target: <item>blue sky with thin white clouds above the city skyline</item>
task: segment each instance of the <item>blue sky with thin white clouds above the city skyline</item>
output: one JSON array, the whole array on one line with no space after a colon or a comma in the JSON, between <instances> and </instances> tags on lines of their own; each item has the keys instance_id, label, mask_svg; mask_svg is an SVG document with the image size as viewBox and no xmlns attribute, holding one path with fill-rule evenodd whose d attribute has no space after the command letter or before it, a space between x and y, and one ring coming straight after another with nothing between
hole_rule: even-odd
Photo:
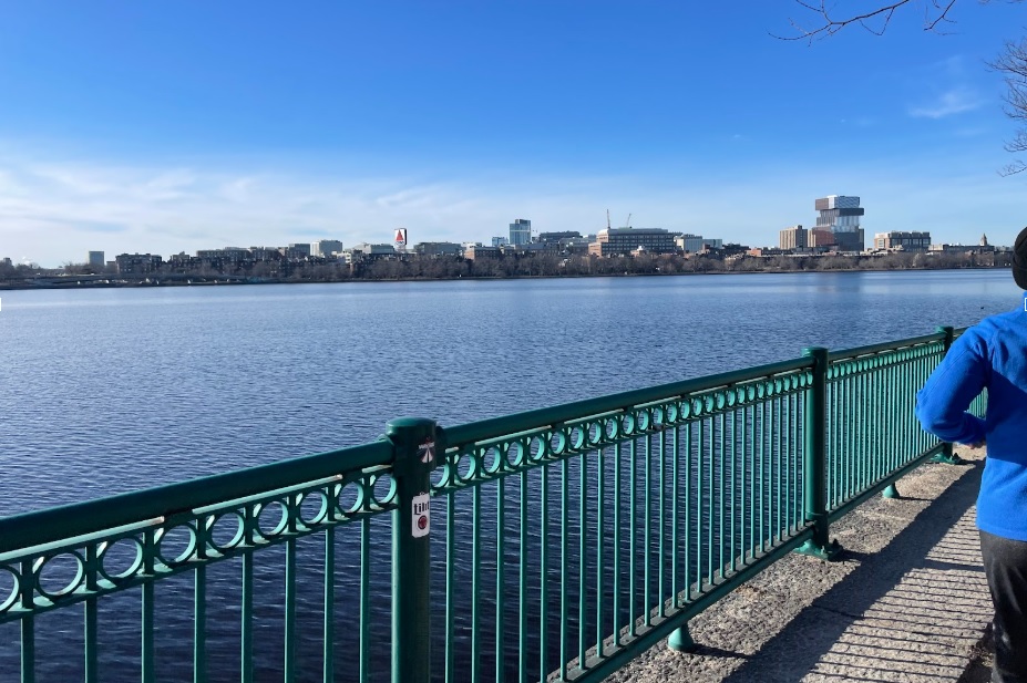
<instances>
[{"instance_id":1,"label":"blue sky with thin white clouds above the city skyline","mask_svg":"<svg viewBox=\"0 0 1027 683\"><path fill-rule=\"evenodd\" d=\"M875 4L839 0L838 10ZM690 6L690 7L684 7ZM1027 4L785 42L791 0L0 0L0 257L635 227L752 246L859 195L867 235L1011 244L985 62Z\"/></svg>"}]
</instances>

